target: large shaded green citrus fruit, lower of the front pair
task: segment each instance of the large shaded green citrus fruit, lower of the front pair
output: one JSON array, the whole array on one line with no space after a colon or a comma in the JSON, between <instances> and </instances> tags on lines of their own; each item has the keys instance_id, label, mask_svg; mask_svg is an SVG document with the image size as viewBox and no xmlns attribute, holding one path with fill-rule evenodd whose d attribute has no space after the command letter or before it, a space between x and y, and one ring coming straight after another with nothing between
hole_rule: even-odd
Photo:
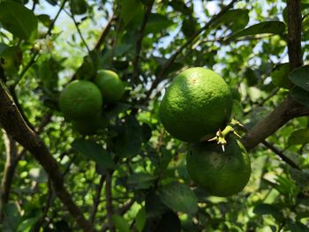
<instances>
[{"instance_id":1,"label":"large shaded green citrus fruit, lower of the front pair","mask_svg":"<svg viewBox=\"0 0 309 232\"><path fill-rule=\"evenodd\" d=\"M216 142L193 144L186 157L192 180L217 197L242 191L251 175L249 155L235 138L229 138L225 152Z\"/></svg>"}]
</instances>

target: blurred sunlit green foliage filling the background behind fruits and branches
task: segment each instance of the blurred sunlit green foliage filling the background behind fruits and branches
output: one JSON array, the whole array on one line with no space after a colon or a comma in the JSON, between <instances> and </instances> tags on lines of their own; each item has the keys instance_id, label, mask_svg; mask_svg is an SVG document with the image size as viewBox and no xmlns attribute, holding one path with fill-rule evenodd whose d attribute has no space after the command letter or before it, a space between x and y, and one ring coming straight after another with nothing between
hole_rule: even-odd
<instances>
[{"instance_id":1,"label":"blurred sunlit green foliage filling the background behind fruits and branches","mask_svg":"<svg viewBox=\"0 0 309 232\"><path fill-rule=\"evenodd\" d=\"M307 1L302 3L306 61L309 7ZM16 86L29 122L38 126L52 115L41 138L87 218L102 176L111 173L112 222L120 232L309 230L308 117L290 121L268 138L301 170L291 169L275 153L258 146L250 153L250 182L230 198L209 196L192 183L185 168L187 145L171 138L158 118L163 87L192 66L220 73L233 93L233 118L248 128L290 94L291 85L297 86L291 95L308 104L308 82L300 78L302 73L308 76L307 68L288 79L285 1L237 1L233 10L180 52L143 104L140 100L169 57L228 1L155 1L145 26L138 79L133 77L132 62L152 0L70 0L46 36L61 4L60 0L0 1L0 71L7 86ZM112 15L117 17L101 49L92 50ZM29 69L27 64L32 64ZM99 69L116 71L127 83L126 93L119 103L104 106L108 127L85 137L64 121L58 95L72 78L92 79ZM0 170L4 163L4 139L0 139ZM94 217L97 229L108 224L106 200L102 191ZM32 231L38 223L41 231L79 231L51 191L49 177L26 152L18 163L0 230Z\"/></svg>"}]
</instances>

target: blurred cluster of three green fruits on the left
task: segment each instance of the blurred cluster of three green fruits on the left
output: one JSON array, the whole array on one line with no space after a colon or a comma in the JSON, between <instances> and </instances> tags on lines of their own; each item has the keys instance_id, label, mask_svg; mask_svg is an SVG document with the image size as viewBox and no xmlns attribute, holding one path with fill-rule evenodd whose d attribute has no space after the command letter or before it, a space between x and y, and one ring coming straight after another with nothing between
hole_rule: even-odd
<instances>
[{"instance_id":1,"label":"blurred cluster of three green fruits on the left","mask_svg":"<svg viewBox=\"0 0 309 232\"><path fill-rule=\"evenodd\" d=\"M65 86L59 97L59 107L76 131L91 135L108 124L103 103L114 104L123 94L124 83L117 73L100 70L93 81L77 79Z\"/></svg>"}]
</instances>

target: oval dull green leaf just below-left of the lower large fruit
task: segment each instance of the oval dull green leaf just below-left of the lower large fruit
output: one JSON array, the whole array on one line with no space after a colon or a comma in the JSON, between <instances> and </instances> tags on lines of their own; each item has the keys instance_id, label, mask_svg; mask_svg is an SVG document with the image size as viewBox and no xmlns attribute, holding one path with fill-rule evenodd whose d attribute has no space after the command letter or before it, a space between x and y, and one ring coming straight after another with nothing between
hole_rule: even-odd
<instances>
[{"instance_id":1,"label":"oval dull green leaf just below-left of the lower large fruit","mask_svg":"<svg viewBox=\"0 0 309 232\"><path fill-rule=\"evenodd\" d=\"M184 183L170 183L159 191L162 202L174 212L193 214L198 211L198 199Z\"/></svg>"}]
</instances>

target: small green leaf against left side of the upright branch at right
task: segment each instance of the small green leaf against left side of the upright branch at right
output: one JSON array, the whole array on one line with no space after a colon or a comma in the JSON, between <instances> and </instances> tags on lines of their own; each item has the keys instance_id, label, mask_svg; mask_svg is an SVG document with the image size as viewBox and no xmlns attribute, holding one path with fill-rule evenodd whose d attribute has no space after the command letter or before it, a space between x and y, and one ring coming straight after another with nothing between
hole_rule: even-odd
<instances>
[{"instance_id":1,"label":"small green leaf against left side of the upright branch at right","mask_svg":"<svg viewBox=\"0 0 309 232\"><path fill-rule=\"evenodd\" d=\"M290 89L293 84L290 82L289 74L290 64L283 63L276 65L270 76L275 86Z\"/></svg>"}]
</instances>

